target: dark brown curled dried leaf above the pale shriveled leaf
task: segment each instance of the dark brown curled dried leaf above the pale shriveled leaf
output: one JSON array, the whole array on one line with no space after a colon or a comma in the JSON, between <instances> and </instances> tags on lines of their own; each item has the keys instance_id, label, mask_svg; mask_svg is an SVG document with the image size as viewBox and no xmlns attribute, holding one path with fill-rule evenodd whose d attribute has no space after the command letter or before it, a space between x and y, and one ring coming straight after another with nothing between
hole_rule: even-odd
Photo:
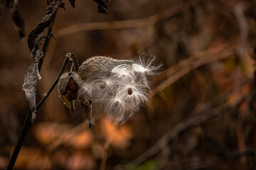
<instances>
[{"instance_id":1,"label":"dark brown curled dried leaf above the pale shriveled leaf","mask_svg":"<svg viewBox=\"0 0 256 170\"><path fill-rule=\"evenodd\" d=\"M41 35L43 34L43 30L48 28L50 26L50 23L55 18L56 12L58 11L58 8L63 4L61 1L48 1L49 5L47 8L46 16L43 17L42 21L38 23L36 28L33 28L31 30L31 33L28 35L28 47L29 50L33 50L35 48L35 51L37 50L36 46L36 40L41 39Z\"/></svg>"}]
</instances>

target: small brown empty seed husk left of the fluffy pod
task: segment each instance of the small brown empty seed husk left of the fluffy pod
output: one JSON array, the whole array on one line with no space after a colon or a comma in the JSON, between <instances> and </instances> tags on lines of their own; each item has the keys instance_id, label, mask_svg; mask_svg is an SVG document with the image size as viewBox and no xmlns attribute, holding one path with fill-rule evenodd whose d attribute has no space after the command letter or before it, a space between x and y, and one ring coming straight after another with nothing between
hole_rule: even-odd
<instances>
[{"instance_id":1,"label":"small brown empty seed husk left of the fluffy pod","mask_svg":"<svg viewBox=\"0 0 256 170\"><path fill-rule=\"evenodd\" d=\"M71 111L75 111L75 99L81 85L82 79L75 72L65 72L58 81L58 96Z\"/></svg>"}]
</instances>

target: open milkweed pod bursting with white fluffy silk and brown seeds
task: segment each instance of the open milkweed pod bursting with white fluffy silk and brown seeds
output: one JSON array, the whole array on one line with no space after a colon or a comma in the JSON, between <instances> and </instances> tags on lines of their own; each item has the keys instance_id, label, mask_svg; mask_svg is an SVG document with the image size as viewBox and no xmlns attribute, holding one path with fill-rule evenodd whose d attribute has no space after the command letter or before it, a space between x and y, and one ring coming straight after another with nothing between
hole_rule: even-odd
<instances>
[{"instance_id":1,"label":"open milkweed pod bursting with white fluffy silk and brown seeds","mask_svg":"<svg viewBox=\"0 0 256 170\"><path fill-rule=\"evenodd\" d=\"M83 81L79 99L97 103L112 122L125 123L149 101L149 78L160 67L151 56L138 60L91 57L78 70Z\"/></svg>"}]
</instances>

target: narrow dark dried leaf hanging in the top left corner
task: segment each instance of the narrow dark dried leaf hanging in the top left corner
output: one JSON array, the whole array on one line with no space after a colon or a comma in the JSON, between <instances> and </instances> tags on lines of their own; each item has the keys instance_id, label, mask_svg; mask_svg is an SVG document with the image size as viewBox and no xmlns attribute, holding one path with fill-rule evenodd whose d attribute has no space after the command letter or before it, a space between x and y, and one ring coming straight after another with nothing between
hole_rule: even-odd
<instances>
[{"instance_id":1,"label":"narrow dark dried leaf hanging in the top left corner","mask_svg":"<svg viewBox=\"0 0 256 170\"><path fill-rule=\"evenodd\" d=\"M0 1L0 8L1 8L1 2ZM23 18L21 17L21 12L18 10L18 1L9 0L7 1L7 8L9 9L9 13L11 14L14 25L18 29L18 34L20 38L25 37L25 22Z\"/></svg>"}]
</instances>

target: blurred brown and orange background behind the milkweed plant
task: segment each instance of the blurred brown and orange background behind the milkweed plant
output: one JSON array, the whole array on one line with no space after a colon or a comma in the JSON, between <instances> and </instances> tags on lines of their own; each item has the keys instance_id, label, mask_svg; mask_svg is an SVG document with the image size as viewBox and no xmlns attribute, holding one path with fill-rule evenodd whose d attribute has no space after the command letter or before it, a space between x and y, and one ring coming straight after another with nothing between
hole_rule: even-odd
<instances>
[{"instance_id":1,"label":"blurred brown and orange background behind the milkweed plant","mask_svg":"<svg viewBox=\"0 0 256 170\"><path fill-rule=\"evenodd\" d=\"M108 15L94 1L65 2L38 81L37 101L65 59L95 55L129 59L139 52L163 63L151 102L124 125L63 106L54 90L37 113L15 169L256 169L256 1L112 0ZM31 64L28 33L46 1L23 0L20 40L4 2L0 21L0 169L26 118L21 90ZM111 22L111 23L109 23Z\"/></svg>"}]
</instances>

